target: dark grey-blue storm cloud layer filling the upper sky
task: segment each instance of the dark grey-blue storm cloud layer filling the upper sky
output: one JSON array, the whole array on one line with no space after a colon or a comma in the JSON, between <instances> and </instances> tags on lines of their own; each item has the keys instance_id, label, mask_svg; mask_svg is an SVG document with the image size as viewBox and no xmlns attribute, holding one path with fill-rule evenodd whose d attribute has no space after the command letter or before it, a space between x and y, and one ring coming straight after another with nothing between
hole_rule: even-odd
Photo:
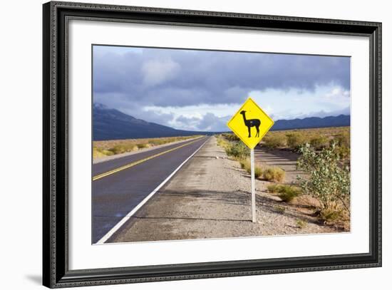
<instances>
[{"instance_id":1,"label":"dark grey-blue storm cloud layer filling the upper sky","mask_svg":"<svg viewBox=\"0 0 392 290\"><path fill-rule=\"evenodd\" d=\"M94 100L130 110L146 105L241 103L249 91L267 88L314 90L331 83L345 89L350 86L349 58L156 48L142 51L95 51Z\"/></svg>"}]
</instances>

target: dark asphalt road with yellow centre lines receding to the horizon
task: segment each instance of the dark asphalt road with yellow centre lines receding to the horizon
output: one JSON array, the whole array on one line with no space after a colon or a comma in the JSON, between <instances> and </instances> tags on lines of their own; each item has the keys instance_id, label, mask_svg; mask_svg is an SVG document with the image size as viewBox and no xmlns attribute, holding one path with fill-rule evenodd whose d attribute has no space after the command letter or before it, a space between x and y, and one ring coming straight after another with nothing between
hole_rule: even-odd
<instances>
[{"instance_id":1,"label":"dark asphalt road with yellow centre lines receding to the horizon","mask_svg":"<svg viewBox=\"0 0 392 290\"><path fill-rule=\"evenodd\" d=\"M93 244L140 204L207 139L208 137L203 137L93 165L91 237ZM174 149L175 147L179 148ZM171 151L165 152L167 150ZM161 154L158 155L159 153ZM153 155L158 156L145 160ZM139 160L145 161L116 171ZM105 172L113 173L105 175ZM97 179L102 175L105 176Z\"/></svg>"}]
</instances>

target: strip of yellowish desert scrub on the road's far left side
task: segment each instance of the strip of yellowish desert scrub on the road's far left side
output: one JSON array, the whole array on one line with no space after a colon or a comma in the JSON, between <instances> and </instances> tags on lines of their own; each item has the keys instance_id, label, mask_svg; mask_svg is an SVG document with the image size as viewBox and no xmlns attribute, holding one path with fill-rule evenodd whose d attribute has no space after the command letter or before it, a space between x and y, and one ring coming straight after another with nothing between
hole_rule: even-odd
<instances>
[{"instance_id":1,"label":"strip of yellowish desert scrub on the road's far left side","mask_svg":"<svg viewBox=\"0 0 392 290\"><path fill-rule=\"evenodd\" d=\"M165 137L165 138L143 138L124 140L93 141L93 158L110 156L125 152L132 152L143 148L148 148L176 141L197 138L200 135Z\"/></svg>"}]
</instances>

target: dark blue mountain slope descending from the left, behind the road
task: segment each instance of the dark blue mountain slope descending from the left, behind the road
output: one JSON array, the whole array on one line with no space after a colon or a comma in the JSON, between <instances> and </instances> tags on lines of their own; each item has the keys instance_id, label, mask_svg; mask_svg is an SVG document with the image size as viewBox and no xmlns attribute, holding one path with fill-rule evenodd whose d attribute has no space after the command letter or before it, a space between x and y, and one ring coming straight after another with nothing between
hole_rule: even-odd
<instances>
[{"instance_id":1,"label":"dark blue mountain slope descending from the left, behind the road","mask_svg":"<svg viewBox=\"0 0 392 290\"><path fill-rule=\"evenodd\" d=\"M93 140L158 138L197 134L205 133L176 130L134 118L100 103L93 104Z\"/></svg>"}]
</instances>

